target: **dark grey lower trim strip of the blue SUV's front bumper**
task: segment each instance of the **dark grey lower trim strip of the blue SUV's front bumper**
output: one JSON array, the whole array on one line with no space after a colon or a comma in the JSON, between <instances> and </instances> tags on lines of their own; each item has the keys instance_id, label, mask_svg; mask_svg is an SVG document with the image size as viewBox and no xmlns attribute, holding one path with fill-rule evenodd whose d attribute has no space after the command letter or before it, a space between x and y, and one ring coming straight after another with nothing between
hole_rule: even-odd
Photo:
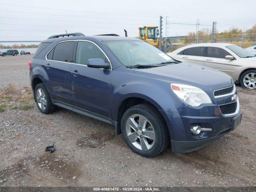
<instances>
[{"instance_id":1,"label":"dark grey lower trim strip of the blue SUV's front bumper","mask_svg":"<svg viewBox=\"0 0 256 192\"><path fill-rule=\"evenodd\" d=\"M211 142L215 141L216 139L224 136L225 134L229 133L230 131L234 130L238 124L240 124L242 118L242 113L239 112L235 117L232 118L231 126L227 129L224 129L217 133L216 136L201 140L193 140L193 141L175 141L171 140L172 144L172 151L173 152L192 152L195 150L198 150L200 148L203 148L204 146L210 144ZM237 121L238 119L239 121Z\"/></svg>"}]
</instances>

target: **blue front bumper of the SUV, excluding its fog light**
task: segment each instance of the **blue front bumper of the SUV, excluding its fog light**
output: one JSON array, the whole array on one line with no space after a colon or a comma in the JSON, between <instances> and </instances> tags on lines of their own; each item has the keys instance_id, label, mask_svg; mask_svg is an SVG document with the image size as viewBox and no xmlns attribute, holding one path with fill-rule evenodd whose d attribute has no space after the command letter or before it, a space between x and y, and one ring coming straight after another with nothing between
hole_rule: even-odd
<instances>
[{"instance_id":1,"label":"blue front bumper of the SUV, excluding its fog light","mask_svg":"<svg viewBox=\"0 0 256 192\"><path fill-rule=\"evenodd\" d=\"M198 150L234 130L240 124L242 116L240 110L232 116L224 116L219 112L219 107L214 104L201 106L196 110L188 107L180 113L165 111L169 120L168 128L172 151L191 152ZM193 135L190 129L193 124L199 124L202 128L210 128L212 131Z\"/></svg>"}]
</instances>

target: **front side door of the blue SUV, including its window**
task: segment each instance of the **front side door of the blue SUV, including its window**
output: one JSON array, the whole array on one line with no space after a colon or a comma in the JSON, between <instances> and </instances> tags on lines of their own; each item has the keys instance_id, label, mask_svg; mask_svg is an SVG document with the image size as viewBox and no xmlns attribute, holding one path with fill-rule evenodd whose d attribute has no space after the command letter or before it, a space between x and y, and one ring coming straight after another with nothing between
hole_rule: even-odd
<instances>
[{"instance_id":1,"label":"front side door of the blue SUV, including its window","mask_svg":"<svg viewBox=\"0 0 256 192\"><path fill-rule=\"evenodd\" d=\"M87 66L88 59L102 58L110 62L104 52L90 41L78 41L74 63L70 66L70 89L73 105L102 118L110 118L111 72Z\"/></svg>"}]
</instances>

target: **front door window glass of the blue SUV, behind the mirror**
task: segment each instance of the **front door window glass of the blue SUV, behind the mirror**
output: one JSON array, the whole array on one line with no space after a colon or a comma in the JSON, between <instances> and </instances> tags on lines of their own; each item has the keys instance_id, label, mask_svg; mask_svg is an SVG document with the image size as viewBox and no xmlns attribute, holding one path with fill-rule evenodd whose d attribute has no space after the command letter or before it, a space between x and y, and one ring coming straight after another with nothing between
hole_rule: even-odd
<instances>
[{"instance_id":1,"label":"front door window glass of the blue SUV, behind the mirror","mask_svg":"<svg viewBox=\"0 0 256 192\"><path fill-rule=\"evenodd\" d=\"M86 41L78 42L76 49L76 63L87 65L88 59L93 58L102 58L105 62L108 62L106 56L96 45Z\"/></svg>"}]
</instances>

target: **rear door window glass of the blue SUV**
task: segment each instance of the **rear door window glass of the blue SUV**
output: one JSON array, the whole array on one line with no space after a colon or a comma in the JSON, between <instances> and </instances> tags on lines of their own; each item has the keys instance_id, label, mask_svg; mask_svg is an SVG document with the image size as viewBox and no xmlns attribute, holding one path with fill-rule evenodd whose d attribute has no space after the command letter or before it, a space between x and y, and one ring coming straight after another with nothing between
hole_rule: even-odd
<instances>
[{"instance_id":1,"label":"rear door window glass of the blue SUV","mask_svg":"<svg viewBox=\"0 0 256 192\"><path fill-rule=\"evenodd\" d=\"M55 46L52 60L70 62L71 55L74 50L74 41L59 43Z\"/></svg>"}]
</instances>

